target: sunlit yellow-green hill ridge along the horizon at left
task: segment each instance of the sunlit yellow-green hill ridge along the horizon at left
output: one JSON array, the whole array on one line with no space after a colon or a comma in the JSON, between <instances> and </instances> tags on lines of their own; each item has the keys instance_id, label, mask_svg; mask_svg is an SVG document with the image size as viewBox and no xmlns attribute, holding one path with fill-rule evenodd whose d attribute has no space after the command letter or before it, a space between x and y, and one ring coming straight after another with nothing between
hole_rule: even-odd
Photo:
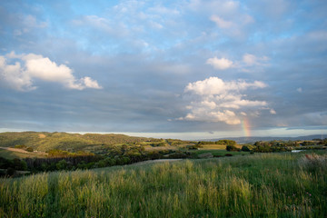
<instances>
[{"instance_id":1,"label":"sunlit yellow-green hill ridge along the horizon at left","mask_svg":"<svg viewBox=\"0 0 327 218\"><path fill-rule=\"evenodd\" d=\"M47 132L1 133L0 146L25 145L39 151L61 149L83 150L85 147L103 144L134 144L156 139L134 137L125 134L67 134Z\"/></svg>"}]
</instances>

